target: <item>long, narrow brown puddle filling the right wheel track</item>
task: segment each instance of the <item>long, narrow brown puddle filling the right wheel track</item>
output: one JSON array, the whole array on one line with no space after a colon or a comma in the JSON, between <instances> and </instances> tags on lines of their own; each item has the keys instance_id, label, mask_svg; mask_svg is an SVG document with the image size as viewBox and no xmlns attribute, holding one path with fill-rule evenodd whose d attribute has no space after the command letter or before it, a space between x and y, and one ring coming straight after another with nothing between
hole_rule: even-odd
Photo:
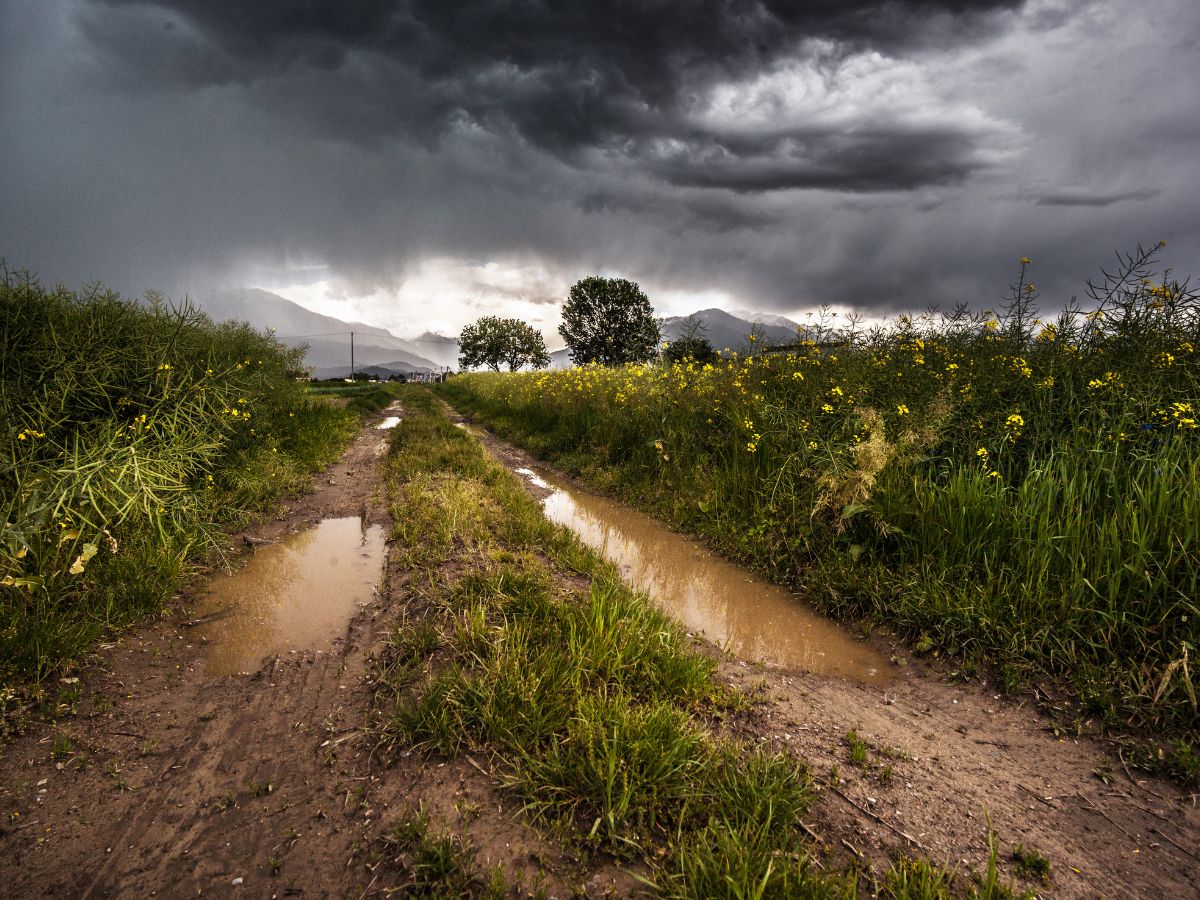
<instances>
[{"instance_id":1,"label":"long, narrow brown puddle filling the right wheel track","mask_svg":"<svg viewBox=\"0 0 1200 900\"><path fill-rule=\"evenodd\" d=\"M871 684L888 661L794 594L728 563L630 506L581 491L550 472L516 469L551 491L546 517L575 532L689 630L736 655Z\"/></svg>"}]
</instances>

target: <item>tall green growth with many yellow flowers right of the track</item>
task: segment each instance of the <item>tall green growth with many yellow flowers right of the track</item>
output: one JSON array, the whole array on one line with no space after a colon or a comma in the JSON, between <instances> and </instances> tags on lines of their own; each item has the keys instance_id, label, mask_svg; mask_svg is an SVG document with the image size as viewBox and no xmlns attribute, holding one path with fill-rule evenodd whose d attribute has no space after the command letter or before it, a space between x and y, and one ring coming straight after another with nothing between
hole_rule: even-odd
<instances>
[{"instance_id":1,"label":"tall green growth with many yellow flowers right of the track","mask_svg":"<svg viewBox=\"0 0 1200 900\"><path fill-rule=\"evenodd\" d=\"M787 354L443 390L836 616L1194 740L1200 301L1157 252L1054 320L1022 259L998 313L818 322Z\"/></svg>"}]
</instances>

